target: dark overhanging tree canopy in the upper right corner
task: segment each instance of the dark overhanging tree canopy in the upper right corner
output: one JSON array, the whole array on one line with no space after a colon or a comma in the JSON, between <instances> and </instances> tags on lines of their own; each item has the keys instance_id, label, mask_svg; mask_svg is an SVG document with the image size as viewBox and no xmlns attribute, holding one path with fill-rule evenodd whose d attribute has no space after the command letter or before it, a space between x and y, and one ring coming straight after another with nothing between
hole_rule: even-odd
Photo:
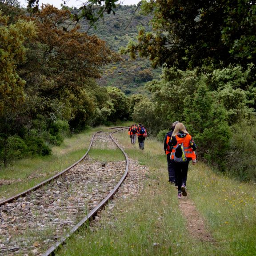
<instances>
[{"instance_id":1,"label":"dark overhanging tree canopy in the upper right corner","mask_svg":"<svg viewBox=\"0 0 256 256\"><path fill-rule=\"evenodd\" d=\"M150 0L153 32L140 29L139 43L128 45L152 66L187 68L240 65L256 73L256 4L251 0Z\"/></svg>"}]
</instances>

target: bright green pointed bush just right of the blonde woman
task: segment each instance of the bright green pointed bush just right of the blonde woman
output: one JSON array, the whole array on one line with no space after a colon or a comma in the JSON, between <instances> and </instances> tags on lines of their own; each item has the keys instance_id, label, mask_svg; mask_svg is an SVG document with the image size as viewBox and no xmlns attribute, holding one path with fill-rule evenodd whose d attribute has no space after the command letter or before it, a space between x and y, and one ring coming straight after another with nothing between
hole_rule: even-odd
<instances>
[{"instance_id":1,"label":"bright green pointed bush just right of the blonde woman","mask_svg":"<svg viewBox=\"0 0 256 256\"><path fill-rule=\"evenodd\" d=\"M204 79L196 88L195 94L184 100L184 120L198 144L198 156L220 165L231 136L227 113L209 92Z\"/></svg>"}]
</instances>

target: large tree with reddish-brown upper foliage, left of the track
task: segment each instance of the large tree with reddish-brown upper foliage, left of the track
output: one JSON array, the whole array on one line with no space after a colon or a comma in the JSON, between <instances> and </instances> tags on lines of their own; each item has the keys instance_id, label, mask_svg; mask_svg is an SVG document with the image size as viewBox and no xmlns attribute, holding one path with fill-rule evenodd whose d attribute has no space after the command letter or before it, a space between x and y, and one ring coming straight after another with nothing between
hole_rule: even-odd
<instances>
[{"instance_id":1,"label":"large tree with reddish-brown upper foliage, left of the track","mask_svg":"<svg viewBox=\"0 0 256 256\"><path fill-rule=\"evenodd\" d=\"M68 29L70 15L68 10L43 5L32 18L26 17L37 26L37 40L30 43L29 61L20 66L20 73L28 95L37 96L36 114L54 115L68 120L72 128L82 128L96 108L88 84L117 55L96 36L79 32L79 27Z\"/></svg>"}]
</instances>

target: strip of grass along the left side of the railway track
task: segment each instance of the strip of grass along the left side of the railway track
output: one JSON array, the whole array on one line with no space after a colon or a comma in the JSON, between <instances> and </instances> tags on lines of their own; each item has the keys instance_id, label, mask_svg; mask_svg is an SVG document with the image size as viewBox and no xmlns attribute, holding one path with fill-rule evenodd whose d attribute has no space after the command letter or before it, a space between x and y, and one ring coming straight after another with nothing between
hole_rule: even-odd
<instances>
[{"instance_id":1,"label":"strip of grass along the left side of the railway track","mask_svg":"<svg viewBox=\"0 0 256 256\"><path fill-rule=\"evenodd\" d=\"M107 127L93 128L66 138L60 147L52 148L51 156L18 160L0 169L0 180L4 181L0 185L0 198L14 196L68 168L84 156L93 133L104 128Z\"/></svg>"}]
</instances>

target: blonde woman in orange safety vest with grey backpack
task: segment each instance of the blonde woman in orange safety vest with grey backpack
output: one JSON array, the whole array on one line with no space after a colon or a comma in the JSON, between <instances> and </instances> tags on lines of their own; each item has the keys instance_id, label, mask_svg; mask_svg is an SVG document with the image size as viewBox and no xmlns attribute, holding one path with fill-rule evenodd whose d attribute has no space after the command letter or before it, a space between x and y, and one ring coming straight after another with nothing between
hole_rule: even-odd
<instances>
[{"instance_id":1,"label":"blonde woman in orange safety vest with grey backpack","mask_svg":"<svg viewBox=\"0 0 256 256\"><path fill-rule=\"evenodd\" d=\"M186 182L188 176L188 164L192 160L192 164L196 164L196 144L192 140L192 136L186 130L184 124L177 123L172 138L168 145L172 147L171 159L175 164L176 184L178 186L178 198L187 196Z\"/></svg>"}]
</instances>

